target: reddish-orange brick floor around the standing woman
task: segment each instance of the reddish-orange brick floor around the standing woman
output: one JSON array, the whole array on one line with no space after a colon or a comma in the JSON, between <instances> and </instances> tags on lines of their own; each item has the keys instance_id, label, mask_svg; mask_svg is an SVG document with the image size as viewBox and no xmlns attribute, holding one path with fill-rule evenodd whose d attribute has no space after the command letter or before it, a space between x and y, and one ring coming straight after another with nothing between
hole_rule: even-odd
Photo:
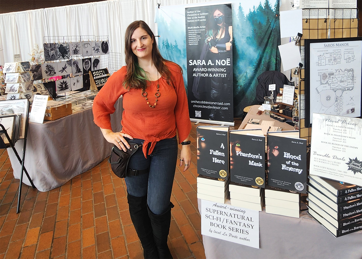
<instances>
[{"instance_id":1,"label":"reddish-orange brick floor around the standing woman","mask_svg":"<svg viewBox=\"0 0 362 259\"><path fill-rule=\"evenodd\" d=\"M241 121L236 120L237 129ZM207 125L207 124L199 124ZM169 247L173 258L205 258L196 195L196 126L190 133L192 163L176 166ZM179 145L179 154L181 145ZM23 184L21 212L6 150L0 150L0 259L143 258L129 216L126 185L107 159L62 187L39 192Z\"/></svg>"}]
</instances>

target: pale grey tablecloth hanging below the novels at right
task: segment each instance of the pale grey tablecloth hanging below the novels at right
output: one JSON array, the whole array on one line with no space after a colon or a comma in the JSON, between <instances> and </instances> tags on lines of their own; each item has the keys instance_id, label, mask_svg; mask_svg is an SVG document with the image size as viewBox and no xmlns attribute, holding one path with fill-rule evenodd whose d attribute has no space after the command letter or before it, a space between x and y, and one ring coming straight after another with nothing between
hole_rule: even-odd
<instances>
[{"instance_id":1,"label":"pale grey tablecloth hanging below the novels at right","mask_svg":"<svg viewBox=\"0 0 362 259\"><path fill-rule=\"evenodd\" d=\"M263 210L259 218L259 249L203 235L206 258L362 258L362 231L335 238L307 212L291 218Z\"/></svg>"}]
</instances>

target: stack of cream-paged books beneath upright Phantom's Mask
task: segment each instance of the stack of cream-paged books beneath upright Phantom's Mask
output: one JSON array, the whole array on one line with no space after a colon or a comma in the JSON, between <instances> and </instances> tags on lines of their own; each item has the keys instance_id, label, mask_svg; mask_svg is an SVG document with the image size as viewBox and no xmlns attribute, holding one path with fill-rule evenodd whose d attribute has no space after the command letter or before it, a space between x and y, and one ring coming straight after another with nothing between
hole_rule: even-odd
<instances>
[{"instance_id":1,"label":"stack of cream-paged books beneath upright Phantom's Mask","mask_svg":"<svg viewBox=\"0 0 362 259\"><path fill-rule=\"evenodd\" d=\"M264 206L264 188L245 184L230 183L232 206L261 211Z\"/></svg>"}]
</instances>

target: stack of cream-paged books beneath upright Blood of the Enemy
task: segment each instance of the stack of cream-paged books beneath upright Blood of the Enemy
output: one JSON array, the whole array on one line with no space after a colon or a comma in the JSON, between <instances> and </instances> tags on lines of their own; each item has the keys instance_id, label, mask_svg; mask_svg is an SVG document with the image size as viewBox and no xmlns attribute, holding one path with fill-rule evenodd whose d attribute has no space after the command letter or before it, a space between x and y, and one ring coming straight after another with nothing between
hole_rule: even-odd
<instances>
[{"instance_id":1,"label":"stack of cream-paged books beneath upright Blood of the Enemy","mask_svg":"<svg viewBox=\"0 0 362 259\"><path fill-rule=\"evenodd\" d=\"M299 211L306 209L306 196L295 191L265 186L265 212L299 218Z\"/></svg>"}]
</instances>

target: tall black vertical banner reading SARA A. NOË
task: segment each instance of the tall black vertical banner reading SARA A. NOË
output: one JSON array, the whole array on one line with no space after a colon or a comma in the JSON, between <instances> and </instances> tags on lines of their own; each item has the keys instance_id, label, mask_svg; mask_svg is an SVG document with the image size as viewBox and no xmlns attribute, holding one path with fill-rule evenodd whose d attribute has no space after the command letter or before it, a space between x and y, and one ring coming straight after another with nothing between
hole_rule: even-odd
<instances>
[{"instance_id":1,"label":"tall black vertical banner reading SARA A. NO\u00cb","mask_svg":"<svg viewBox=\"0 0 362 259\"><path fill-rule=\"evenodd\" d=\"M185 8L191 121L233 123L231 4Z\"/></svg>"}]
</instances>

